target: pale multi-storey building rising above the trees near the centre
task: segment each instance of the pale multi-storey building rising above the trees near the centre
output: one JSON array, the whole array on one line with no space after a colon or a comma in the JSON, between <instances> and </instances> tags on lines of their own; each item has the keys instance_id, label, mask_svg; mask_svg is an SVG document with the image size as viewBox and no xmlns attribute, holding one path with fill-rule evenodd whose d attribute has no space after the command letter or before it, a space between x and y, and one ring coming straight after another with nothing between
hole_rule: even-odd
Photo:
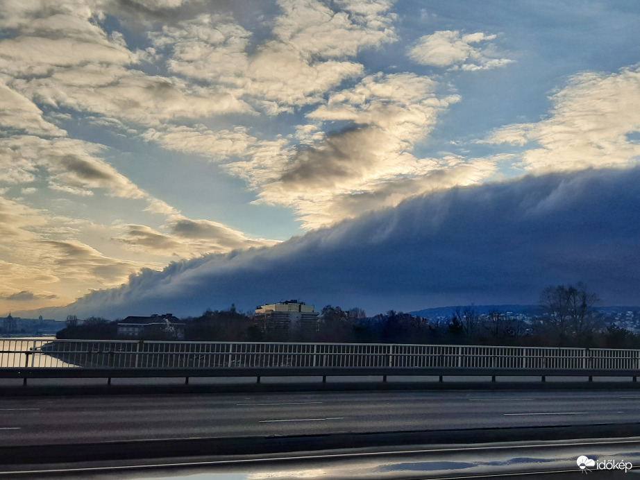
<instances>
[{"instance_id":1,"label":"pale multi-storey building rising above the trees near the centre","mask_svg":"<svg viewBox=\"0 0 640 480\"><path fill-rule=\"evenodd\" d=\"M259 305L255 309L255 320L264 325L265 332L276 330L317 332L320 314L313 311L313 305L305 305L298 300Z\"/></svg>"}]
</instances>

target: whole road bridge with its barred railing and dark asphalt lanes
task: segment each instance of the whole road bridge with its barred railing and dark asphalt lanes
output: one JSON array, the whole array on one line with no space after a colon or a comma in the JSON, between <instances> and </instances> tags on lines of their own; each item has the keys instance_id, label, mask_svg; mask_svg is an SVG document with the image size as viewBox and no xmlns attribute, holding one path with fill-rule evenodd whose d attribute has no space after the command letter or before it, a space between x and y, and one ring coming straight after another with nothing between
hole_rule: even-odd
<instances>
[{"instance_id":1,"label":"whole road bridge with its barred railing and dark asphalt lanes","mask_svg":"<svg viewBox=\"0 0 640 480\"><path fill-rule=\"evenodd\" d=\"M582 454L640 463L640 454L630 454L640 452L640 396L629 390L640 385L632 382L640 375L638 350L19 338L1 339L0 349L0 378L15 382L0 395L0 478L42 472L70 478L112 468L242 474L258 468L271 477L288 469L289 478L309 469L339 478L353 469L376 477L397 468L416 469L406 478L472 471L482 477L480 457L495 472L571 477ZM294 388L294 377L310 375L317 377L310 388ZM327 377L362 375L373 382L316 388ZM471 382L459 391L438 388L455 382L419 379L414 384L424 388L398 391L387 388L398 383L394 375L534 382L499 391L491 387L508 382ZM625 381L579 382L579 394L563 382L540 383L565 375ZM240 391L228 384L201 388L195 379L171 390L158 388L164 381L138 386L146 377L269 376L287 382L286 391L265 388L267 378L262 385L249 380L251 388ZM29 378L55 386L19 385ZM87 384L121 378L135 388L101 383L97 391L72 391L62 384L76 378ZM541 388L554 384L562 388ZM425 472L421 465L444 470Z\"/></svg>"}]
</instances>

